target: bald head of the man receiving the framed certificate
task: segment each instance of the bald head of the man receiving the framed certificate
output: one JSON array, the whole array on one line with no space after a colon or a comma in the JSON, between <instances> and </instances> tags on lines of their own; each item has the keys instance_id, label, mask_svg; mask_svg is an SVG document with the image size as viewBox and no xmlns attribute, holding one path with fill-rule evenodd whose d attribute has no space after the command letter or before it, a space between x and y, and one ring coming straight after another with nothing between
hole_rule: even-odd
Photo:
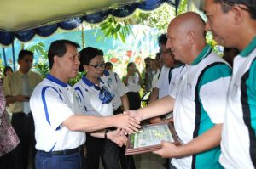
<instances>
[{"instance_id":1,"label":"bald head of the man receiving the framed certificate","mask_svg":"<svg viewBox=\"0 0 256 169\"><path fill-rule=\"evenodd\" d=\"M170 22L166 48L172 49L175 59L190 64L205 46L205 22L199 14L180 14Z\"/></svg>"}]
</instances>

